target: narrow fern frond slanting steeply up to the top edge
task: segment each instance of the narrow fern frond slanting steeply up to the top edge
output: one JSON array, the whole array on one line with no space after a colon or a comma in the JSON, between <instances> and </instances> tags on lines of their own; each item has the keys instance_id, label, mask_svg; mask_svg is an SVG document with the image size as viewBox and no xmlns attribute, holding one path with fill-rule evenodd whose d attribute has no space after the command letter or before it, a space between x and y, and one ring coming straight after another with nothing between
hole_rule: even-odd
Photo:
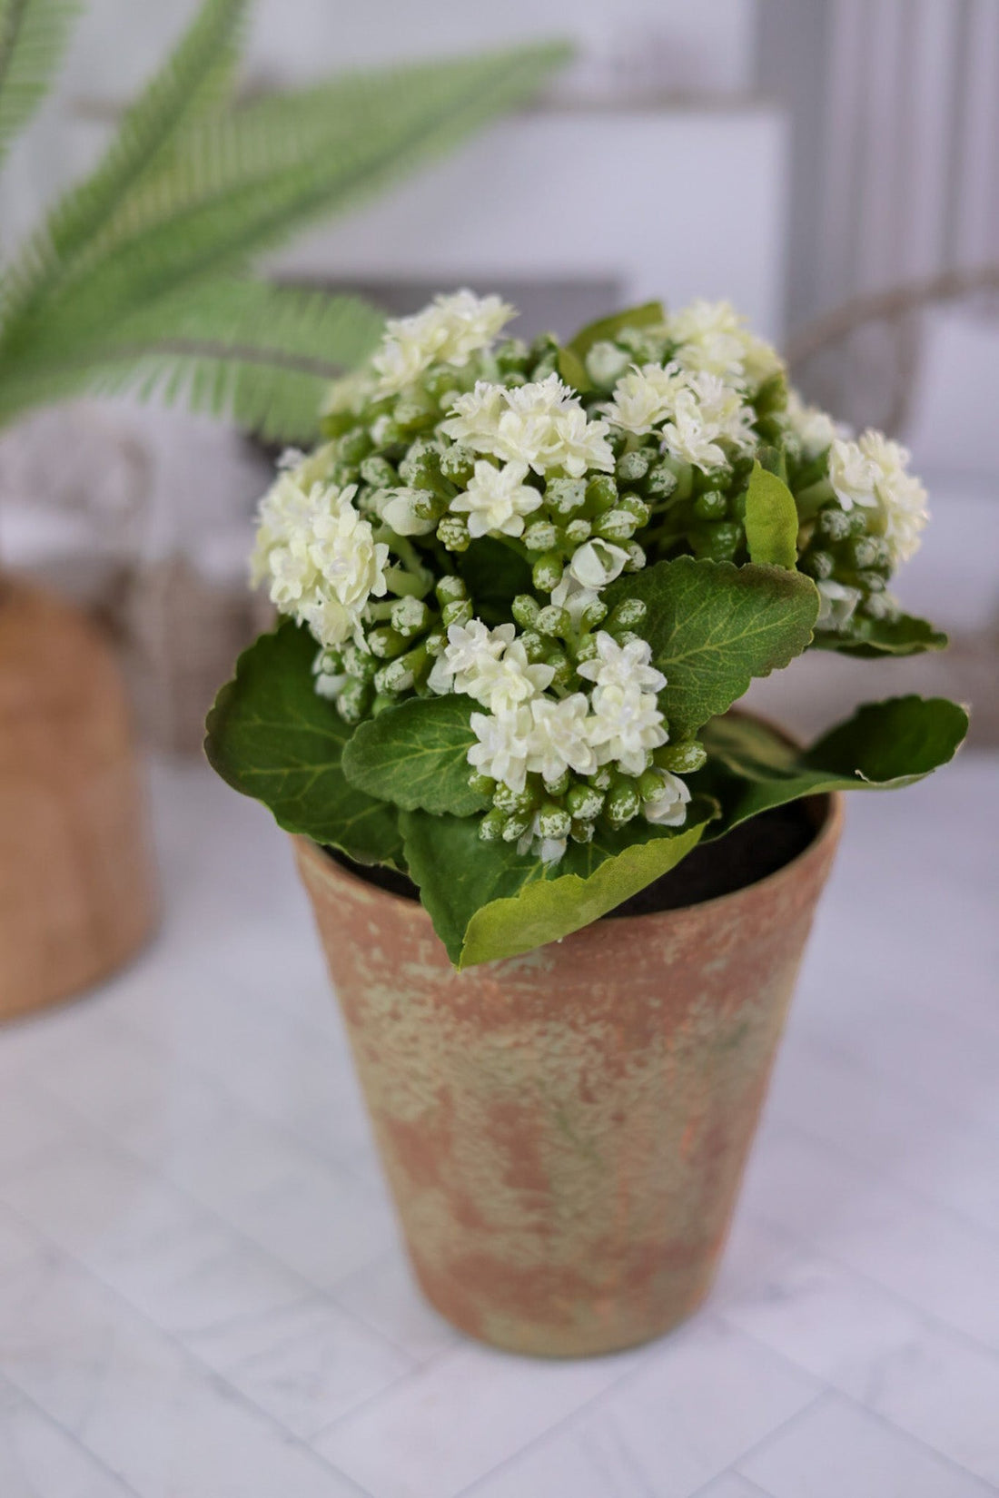
<instances>
[{"instance_id":1,"label":"narrow fern frond slanting steeply up to the top edge","mask_svg":"<svg viewBox=\"0 0 999 1498\"><path fill-rule=\"evenodd\" d=\"M52 292L144 174L169 160L177 133L235 63L246 10L247 0L205 0L172 55L126 111L96 169L55 204L10 268L4 321Z\"/></svg>"}]
</instances>

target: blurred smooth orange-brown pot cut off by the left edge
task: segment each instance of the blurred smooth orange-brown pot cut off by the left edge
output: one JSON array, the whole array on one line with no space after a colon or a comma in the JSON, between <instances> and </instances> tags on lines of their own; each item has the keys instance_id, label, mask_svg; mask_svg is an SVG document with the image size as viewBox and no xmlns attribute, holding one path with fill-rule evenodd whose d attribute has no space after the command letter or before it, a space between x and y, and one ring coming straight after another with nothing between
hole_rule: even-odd
<instances>
[{"instance_id":1,"label":"blurred smooth orange-brown pot cut off by the left edge","mask_svg":"<svg viewBox=\"0 0 999 1498\"><path fill-rule=\"evenodd\" d=\"M114 653L76 608L0 578L0 1019L108 977L154 924Z\"/></svg>"}]
</instances>

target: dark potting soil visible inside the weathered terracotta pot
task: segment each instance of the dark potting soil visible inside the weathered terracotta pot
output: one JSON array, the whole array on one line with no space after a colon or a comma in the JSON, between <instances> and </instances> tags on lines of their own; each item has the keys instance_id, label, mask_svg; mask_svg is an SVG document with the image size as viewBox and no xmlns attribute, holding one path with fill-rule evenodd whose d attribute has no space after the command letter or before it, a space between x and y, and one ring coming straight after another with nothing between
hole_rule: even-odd
<instances>
[{"instance_id":1,"label":"dark potting soil visible inside the weathered terracotta pot","mask_svg":"<svg viewBox=\"0 0 999 1498\"><path fill-rule=\"evenodd\" d=\"M701 905L719 894L732 894L747 884L765 879L785 863L791 863L809 846L816 834L816 815L809 801L792 801L789 806L774 806L752 821L743 822L717 842L702 843L669 873L655 884L632 894L604 920L617 915L652 915L655 911L675 911L683 905ZM353 863L340 852L327 848L334 863L349 869L367 884L374 884L389 894L401 894L418 900L416 885L404 873L394 869L368 867Z\"/></svg>"}]
</instances>

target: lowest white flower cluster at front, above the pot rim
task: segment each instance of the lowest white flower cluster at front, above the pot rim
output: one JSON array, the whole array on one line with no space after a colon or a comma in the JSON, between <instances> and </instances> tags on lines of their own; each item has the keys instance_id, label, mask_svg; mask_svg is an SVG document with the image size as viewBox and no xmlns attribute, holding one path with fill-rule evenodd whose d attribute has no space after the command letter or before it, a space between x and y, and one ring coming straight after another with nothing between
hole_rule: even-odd
<instances>
[{"instance_id":1,"label":"lowest white flower cluster at front, above the pot rim","mask_svg":"<svg viewBox=\"0 0 999 1498\"><path fill-rule=\"evenodd\" d=\"M464 692L487 709L472 713L478 743L469 749L469 764L479 774L520 794L529 774L556 783L572 771L592 776L604 765L625 774L646 771L653 749L666 743L656 694L665 677L650 664L644 640L619 644L613 635L596 635L596 655L578 667L592 691L547 697L554 670L530 664L514 625L487 629L473 619L451 625L448 644L434 664L430 686L436 692ZM649 821L680 825L690 798L683 780L658 771L658 786L643 804ZM599 801L599 797L596 797ZM557 861L565 837L545 837L544 825L529 828L524 848L535 843L545 861Z\"/></svg>"}]
</instances>

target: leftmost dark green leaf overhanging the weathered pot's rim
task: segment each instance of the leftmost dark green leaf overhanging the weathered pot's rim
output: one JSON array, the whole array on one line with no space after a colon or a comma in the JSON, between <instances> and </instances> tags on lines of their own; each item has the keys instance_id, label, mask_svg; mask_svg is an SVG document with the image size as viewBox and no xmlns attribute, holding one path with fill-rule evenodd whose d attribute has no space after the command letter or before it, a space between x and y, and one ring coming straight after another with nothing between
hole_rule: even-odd
<instances>
[{"instance_id":1,"label":"leftmost dark green leaf overhanging the weathered pot's rim","mask_svg":"<svg viewBox=\"0 0 999 1498\"><path fill-rule=\"evenodd\" d=\"M340 848L358 863L401 866L395 809L350 785L341 768L352 730L313 689L316 641L286 620L237 664L208 715L208 762L280 827Z\"/></svg>"}]
</instances>

